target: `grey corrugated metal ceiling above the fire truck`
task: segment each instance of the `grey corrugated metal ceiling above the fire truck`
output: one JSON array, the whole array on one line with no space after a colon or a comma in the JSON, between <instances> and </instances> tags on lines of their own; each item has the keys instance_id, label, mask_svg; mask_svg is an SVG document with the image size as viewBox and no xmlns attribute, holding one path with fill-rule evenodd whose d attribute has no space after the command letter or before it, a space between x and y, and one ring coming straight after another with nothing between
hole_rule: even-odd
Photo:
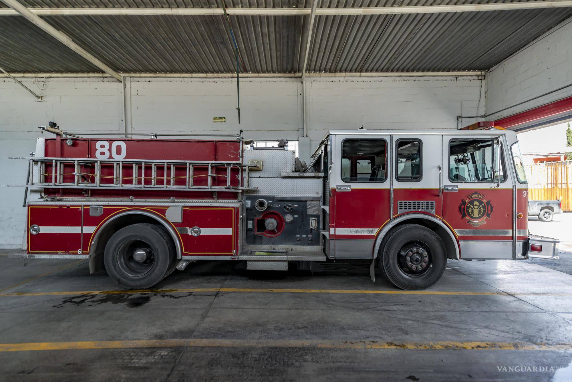
<instances>
[{"instance_id":1,"label":"grey corrugated metal ceiling above the fire truck","mask_svg":"<svg viewBox=\"0 0 572 382\"><path fill-rule=\"evenodd\" d=\"M21 0L29 7L219 7L216 0ZM493 1L322 0L318 7L443 5ZM309 7L309 0L228 0L228 7ZM572 8L466 13L319 16L308 72L486 70ZM119 72L233 73L224 18L47 16L51 25ZM0 20L0 66L14 73L101 72L19 16ZM231 16L249 73L299 73L309 16ZM243 69L241 68L241 71Z\"/></svg>"}]
</instances>

